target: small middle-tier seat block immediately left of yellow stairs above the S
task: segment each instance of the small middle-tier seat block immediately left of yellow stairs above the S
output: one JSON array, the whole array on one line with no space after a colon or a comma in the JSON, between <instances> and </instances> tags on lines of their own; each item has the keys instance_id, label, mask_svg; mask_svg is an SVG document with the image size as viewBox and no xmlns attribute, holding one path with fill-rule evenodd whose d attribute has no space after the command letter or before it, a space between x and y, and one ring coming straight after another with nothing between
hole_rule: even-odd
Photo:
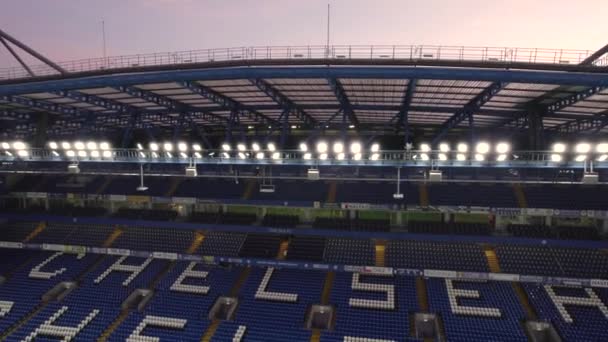
<instances>
[{"instance_id":1,"label":"small middle-tier seat block immediately left of yellow stairs above the S","mask_svg":"<svg viewBox=\"0 0 608 342\"><path fill-rule=\"evenodd\" d=\"M371 240L329 238L325 262L346 265L375 265L375 246Z\"/></svg>"}]
</instances>

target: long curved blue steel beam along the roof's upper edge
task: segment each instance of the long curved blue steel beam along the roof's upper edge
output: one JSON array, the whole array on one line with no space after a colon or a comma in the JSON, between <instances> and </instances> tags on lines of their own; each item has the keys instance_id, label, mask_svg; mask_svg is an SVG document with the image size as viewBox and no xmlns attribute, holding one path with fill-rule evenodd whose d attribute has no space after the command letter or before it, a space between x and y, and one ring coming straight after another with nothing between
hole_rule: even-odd
<instances>
[{"instance_id":1,"label":"long curved blue steel beam along the roof's upper edge","mask_svg":"<svg viewBox=\"0 0 608 342\"><path fill-rule=\"evenodd\" d=\"M113 74L0 85L0 96L192 80L272 78L435 79L608 86L608 73L428 67L234 67Z\"/></svg>"}]
</instances>

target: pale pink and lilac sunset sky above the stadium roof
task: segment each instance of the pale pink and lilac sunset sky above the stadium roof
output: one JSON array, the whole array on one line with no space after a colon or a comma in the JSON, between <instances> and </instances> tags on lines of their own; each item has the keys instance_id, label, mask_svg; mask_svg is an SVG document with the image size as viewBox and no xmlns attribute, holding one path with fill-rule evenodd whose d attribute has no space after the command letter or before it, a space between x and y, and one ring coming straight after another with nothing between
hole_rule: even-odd
<instances>
[{"instance_id":1,"label":"pale pink and lilac sunset sky above the stadium roof","mask_svg":"<svg viewBox=\"0 0 608 342\"><path fill-rule=\"evenodd\" d=\"M597 50L606 0L331 0L332 44ZM54 61L255 45L324 45L327 0L3 0L0 28ZM17 62L0 46L0 67Z\"/></svg>"}]
</instances>

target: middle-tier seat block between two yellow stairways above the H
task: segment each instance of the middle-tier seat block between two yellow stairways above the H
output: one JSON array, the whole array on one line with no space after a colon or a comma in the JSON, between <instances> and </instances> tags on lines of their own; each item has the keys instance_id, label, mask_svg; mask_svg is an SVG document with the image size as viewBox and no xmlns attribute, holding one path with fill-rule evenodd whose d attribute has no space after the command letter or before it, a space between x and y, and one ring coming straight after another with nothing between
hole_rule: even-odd
<instances>
[{"instance_id":1,"label":"middle-tier seat block between two yellow stairways above the H","mask_svg":"<svg viewBox=\"0 0 608 342\"><path fill-rule=\"evenodd\" d=\"M194 231L187 229L127 227L112 247L184 253L193 240Z\"/></svg>"}]
</instances>

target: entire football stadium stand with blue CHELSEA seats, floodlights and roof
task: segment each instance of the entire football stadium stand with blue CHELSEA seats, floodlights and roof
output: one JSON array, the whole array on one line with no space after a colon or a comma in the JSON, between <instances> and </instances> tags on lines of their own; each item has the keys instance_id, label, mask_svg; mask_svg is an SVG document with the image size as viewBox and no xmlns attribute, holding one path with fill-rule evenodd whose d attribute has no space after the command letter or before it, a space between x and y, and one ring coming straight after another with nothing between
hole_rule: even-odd
<instances>
[{"instance_id":1,"label":"entire football stadium stand with blue CHELSEA seats, floodlights and roof","mask_svg":"<svg viewBox=\"0 0 608 342\"><path fill-rule=\"evenodd\" d=\"M10 31L0 340L608 341L608 45Z\"/></svg>"}]
</instances>

